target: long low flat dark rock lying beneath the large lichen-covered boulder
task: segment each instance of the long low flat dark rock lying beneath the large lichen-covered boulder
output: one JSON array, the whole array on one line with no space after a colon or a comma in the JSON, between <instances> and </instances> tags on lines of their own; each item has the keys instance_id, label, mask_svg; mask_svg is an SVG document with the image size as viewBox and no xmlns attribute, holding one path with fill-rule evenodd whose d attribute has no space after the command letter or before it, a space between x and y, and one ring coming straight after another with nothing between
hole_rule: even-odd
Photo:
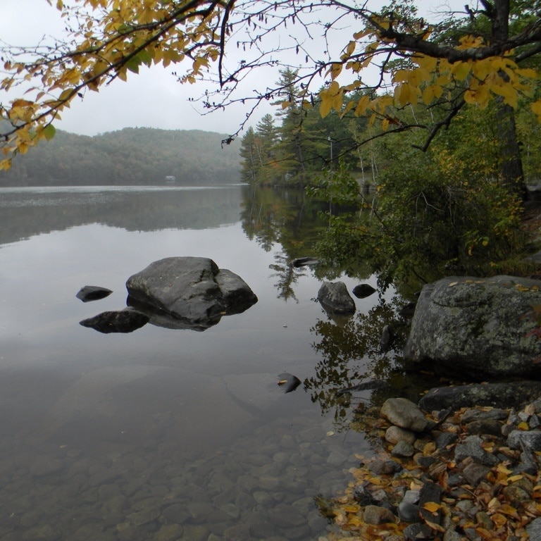
<instances>
[{"instance_id":1,"label":"long low flat dark rock lying beneath the large lichen-covered boulder","mask_svg":"<svg viewBox=\"0 0 541 541\"><path fill-rule=\"evenodd\" d=\"M541 396L541 381L487 383L435 387L419 400L426 411L473 406L520 407Z\"/></svg>"}]
</instances>

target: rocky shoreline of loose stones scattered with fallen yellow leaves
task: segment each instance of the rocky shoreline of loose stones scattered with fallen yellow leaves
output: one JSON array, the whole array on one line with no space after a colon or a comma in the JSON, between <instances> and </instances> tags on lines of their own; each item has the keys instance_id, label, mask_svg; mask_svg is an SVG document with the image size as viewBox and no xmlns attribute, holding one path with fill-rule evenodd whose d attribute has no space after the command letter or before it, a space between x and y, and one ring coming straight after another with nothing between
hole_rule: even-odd
<instances>
[{"instance_id":1,"label":"rocky shoreline of loose stones scattered with fallen yellow leaves","mask_svg":"<svg viewBox=\"0 0 541 541\"><path fill-rule=\"evenodd\" d=\"M319 502L340 527L329 541L541 539L541 399L429 414L387 399L355 425L376 454L358 456L344 495Z\"/></svg>"}]
</instances>

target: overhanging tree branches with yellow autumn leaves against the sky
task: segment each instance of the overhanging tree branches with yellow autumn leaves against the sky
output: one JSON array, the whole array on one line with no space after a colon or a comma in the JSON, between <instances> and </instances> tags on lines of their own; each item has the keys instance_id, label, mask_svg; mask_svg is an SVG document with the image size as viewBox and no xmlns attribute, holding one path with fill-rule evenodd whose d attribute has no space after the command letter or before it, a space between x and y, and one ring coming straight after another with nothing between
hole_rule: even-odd
<instances>
[{"instance_id":1,"label":"overhanging tree branches with yellow autumn leaves against the sky","mask_svg":"<svg viewBox=\"0 0 541 541\"><path fill-rule=\"evenodd\" d=\"M262 101L287 108L317 100L322 116L352 111L392 131L404 129L397 108L447 106L446 116L430 127L428 143L466 104L484 108L497 101L515 108L526 99L541 121L538 4L482 0L430 24L409 0L392 1L379 12L369 1L57 0L68 29L63 40L0 48L0 90L6 96L20 91L0 103L0 118L11 126L1 134L0 168L9 168L15 154L25 154L39 139L54 137L52 123L73 100L152 65L182 64L185 71L175 74L181 83L210 78L216 93L206 92L204 107L250 103L247 118ZM351 31L337 54L329 46L333 30L340 39ZM286 36L290 41L282 42ZM325 50L311 51L314 37L324 40ZM296 61L285 61L292 51ZM254 68L298 69L295 62L302 70L294 99L285 87L266 86L264 77L262 87L242 88Z\"/></svg>"}]
</instances>

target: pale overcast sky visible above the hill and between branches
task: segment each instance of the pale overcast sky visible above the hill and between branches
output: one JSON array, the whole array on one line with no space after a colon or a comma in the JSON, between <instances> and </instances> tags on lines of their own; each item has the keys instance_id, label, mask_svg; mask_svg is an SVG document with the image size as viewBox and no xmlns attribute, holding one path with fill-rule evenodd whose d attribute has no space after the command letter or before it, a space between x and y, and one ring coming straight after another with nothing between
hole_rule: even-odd
<instances>
[{"instance_id":1,"label":"pale overcast sky visible above the hill and between branches","mask_svg":"<svg viewBox=\"0 0 541 541\"><path fill-rule=\"evenodd\" d=\"M453 0L454 1L454 0ZM423 1L423 6L438 6L442 1ZM56 4L53 1L53 4ZM9 44L30 46L44 35L61 35L62 22L56 8L46 0L0 0L0 39ZM347 44L354 30L343 30L341 46ZM189 98L201 96L204 87L180 85L172 72L175 66L142 68L138 75L130 73L128 82L115 81L97 92L87 92L84 101L72 104L62 113L56 128L81 135L120 130L126 127L163 128L167 130L206 130L232 134L237 131L246 108L237 106L201 116L198 104ZM278 70L259 72L254 77L267 77L268 85L278 79ZM255 81L252 80L253 86ZM250 80L245 82L247 93ZM11 97L13 99L13 96ZM6 96L0 94L0 101ZM251 124L275 108L266 104L260 108Z\"/></svg>"}]
</instances>

